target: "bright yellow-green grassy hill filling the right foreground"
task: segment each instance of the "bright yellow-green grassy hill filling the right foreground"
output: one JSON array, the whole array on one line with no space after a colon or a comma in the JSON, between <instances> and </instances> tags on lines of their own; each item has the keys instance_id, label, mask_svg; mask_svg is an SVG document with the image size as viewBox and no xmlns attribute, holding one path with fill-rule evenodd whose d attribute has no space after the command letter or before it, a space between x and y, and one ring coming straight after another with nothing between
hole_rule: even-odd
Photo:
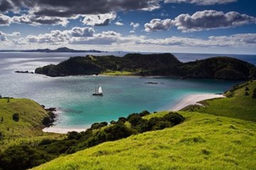
<instances>
[{"instance_id":1,"label":"bright yellow-green grassy hill filling the right foreground","mask_svg":"<svg viewBox=\"0 0 256 170\"><path fill-rule=\"evenodd\" d=\"M186 117L180 125L105 142L34 169L255 169L255 122L180 113Z\"/></svg>"}]
</instances>

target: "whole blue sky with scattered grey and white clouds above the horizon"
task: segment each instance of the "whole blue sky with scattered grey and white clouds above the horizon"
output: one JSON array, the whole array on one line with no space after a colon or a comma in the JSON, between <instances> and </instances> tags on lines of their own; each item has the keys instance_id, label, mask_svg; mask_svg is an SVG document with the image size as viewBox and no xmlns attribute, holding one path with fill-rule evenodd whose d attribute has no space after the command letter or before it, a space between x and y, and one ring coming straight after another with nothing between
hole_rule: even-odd
<instances>
[{"instance_id":1,"label":"whole blue sky with scattered grey and white clouds above the horizon","mask_svg":"<svg viewBox=\"0 0 256 170\"><path fill-rule=\"evenodd\" d=\"M255 0L0 0L0 49L256 54Z\"/></svg>"}]
</instances>

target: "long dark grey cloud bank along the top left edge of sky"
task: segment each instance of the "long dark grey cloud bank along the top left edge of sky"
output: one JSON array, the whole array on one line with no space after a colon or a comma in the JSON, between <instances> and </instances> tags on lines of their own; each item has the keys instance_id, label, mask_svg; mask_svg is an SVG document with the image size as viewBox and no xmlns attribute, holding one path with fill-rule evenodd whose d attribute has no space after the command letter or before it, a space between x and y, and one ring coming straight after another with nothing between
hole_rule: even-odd
<instances>
[{"instance_id":1,"label":"long dark grey cloud bank along the top left edge of sky","mask_svg":"<svg viewBox=\"0 0 256 170\"><path fill-rule=\"evenodd\" d=\"M37 16L72 17L74 15L103 14L112 11L146 10L160 8L162 0L2 0L0 11L17 11L21 8L30 8Z\"/></svg>"}]
</instances>

